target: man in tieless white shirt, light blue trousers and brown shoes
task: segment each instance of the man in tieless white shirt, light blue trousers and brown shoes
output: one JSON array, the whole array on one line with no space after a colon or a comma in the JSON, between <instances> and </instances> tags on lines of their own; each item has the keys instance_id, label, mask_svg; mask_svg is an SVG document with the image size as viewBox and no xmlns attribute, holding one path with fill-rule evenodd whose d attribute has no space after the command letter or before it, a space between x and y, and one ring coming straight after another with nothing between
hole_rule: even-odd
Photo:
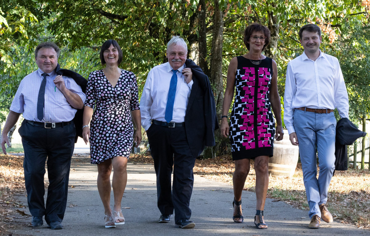
<instances>
[{"instance_id":1,"label":"man in tieless white shirt, light blue trousers and brown shoes","mask_svg":"<svg viewBox=\"0 0 370 236\"><path fill-rule=\"evenodd\" d=\"M293 145L299 144L303 181L310 207L310 229L333 217L327 210L327 191L334 171L337 108L348 118L348 94L336 57L320 51L320 28L306 24L299 30L304 52L288 63L284 95L284 122ZM319 157L317 178L316 148Z\"/></svg>"}]
</instances>

